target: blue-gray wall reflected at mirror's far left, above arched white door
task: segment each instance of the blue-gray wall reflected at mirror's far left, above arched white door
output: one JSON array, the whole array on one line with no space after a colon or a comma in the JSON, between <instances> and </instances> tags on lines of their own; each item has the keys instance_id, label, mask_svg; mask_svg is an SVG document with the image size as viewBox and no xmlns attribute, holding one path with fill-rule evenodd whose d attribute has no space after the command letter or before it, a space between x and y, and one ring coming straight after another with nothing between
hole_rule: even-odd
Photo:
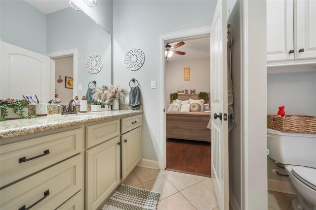
<instances>
[{"instance_id":1,"label":"blue-gray wall reflected at mirror's far left, above arched white door","mask_svg":"<svg viewBox=\"0 0 316 210\"><path fill-rule=\"evenodd\" d=\"M46 54L46 15L23 0L0 0L0 38Z\"/></svg>"}]
</instances>

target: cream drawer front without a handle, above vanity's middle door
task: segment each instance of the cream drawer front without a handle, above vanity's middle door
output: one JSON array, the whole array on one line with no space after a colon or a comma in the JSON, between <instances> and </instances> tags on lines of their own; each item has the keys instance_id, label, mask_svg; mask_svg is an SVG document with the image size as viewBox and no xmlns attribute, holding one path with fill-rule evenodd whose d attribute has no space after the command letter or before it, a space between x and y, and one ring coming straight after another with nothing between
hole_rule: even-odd
<instances>
[{"instance_id":1,"label":"cream drawer front without a handle, above vanity's middle door","mask_svg":"<svg viewBox=\"0 0 316 210\"><path fill-rule=\"evenodd\" d=\"M86 148L93 147L119 135L119 120L86 126Z\"/></svg>"}]
</instances>

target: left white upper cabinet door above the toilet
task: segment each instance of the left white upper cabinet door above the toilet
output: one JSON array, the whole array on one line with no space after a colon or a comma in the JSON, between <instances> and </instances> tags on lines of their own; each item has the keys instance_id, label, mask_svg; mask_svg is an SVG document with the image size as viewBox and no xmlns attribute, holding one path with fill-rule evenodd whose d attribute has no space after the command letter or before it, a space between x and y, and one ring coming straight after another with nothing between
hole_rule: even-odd
<instances>
[{"instance_id":1,"label":"left white upper cabinet door above the toilet","mask_svg":"<svg viewBox=\"0 0 316 210\"><path fill-rule=\"evenodd\" d=\"M293 7L293 0L267 1L268 62L294 60Z\"/></svg>"}]
</instances>

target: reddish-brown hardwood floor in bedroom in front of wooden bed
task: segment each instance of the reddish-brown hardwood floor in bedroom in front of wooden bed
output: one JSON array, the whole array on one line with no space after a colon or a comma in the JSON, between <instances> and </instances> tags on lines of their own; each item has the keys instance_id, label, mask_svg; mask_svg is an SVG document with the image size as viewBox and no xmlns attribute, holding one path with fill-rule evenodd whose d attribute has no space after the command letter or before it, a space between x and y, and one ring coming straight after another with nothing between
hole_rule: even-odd
<instances>
[{"instance_id":1,"label":"reddish-brown hardwood floor in bedroom in front of wooden bed","mask_svg":"<svg viewBox=\"0 0 316 210\"><path fill-rule=\"evenodd\" d=\"M211 177L209 142L167 139L167 169Z\"/></svg>"}]
</instances>

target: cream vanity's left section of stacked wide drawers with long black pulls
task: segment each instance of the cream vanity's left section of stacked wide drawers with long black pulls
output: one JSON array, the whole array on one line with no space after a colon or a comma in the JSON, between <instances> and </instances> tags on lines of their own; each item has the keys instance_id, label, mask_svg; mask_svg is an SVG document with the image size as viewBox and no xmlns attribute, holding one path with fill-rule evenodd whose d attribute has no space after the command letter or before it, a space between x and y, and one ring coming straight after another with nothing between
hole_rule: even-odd
<instances>
[{"instance_id":1,"label":"cream vanity's left section of stacked wide drawers with long black pulls","mask_svg":"<svg viewBox=\"0 0 316 210\"><path fill-rule=\"evenodd\" d=\"M82 193L83 140L79 128L1 145L0 209L52 210Z\"/></svg>"}]
</instances>

